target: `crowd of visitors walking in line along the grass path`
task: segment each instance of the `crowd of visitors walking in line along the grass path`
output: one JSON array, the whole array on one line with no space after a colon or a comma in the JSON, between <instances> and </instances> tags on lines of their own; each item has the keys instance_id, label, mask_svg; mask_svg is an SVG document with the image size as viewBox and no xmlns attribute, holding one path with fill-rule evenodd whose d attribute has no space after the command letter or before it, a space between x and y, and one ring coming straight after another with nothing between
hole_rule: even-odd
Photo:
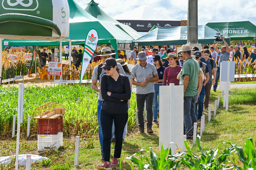
<instances>
[{"instance_id":1,"label":"crowd of visitors walking in line along the grass path","mask_svg":"<svg viewBox=\"0 0 256 170\"><path fill-rule=\"evenodd\" d=\"M137 55L137 47L134 47L130 57L138 64L132 70L127 67L120 51L120 58L115 59L112 55L116 53L111 52L109 47L101 49L100 55L96 57L102 59L103 63L96 66L92 74L92 88L99 92L99 139L104 161L97 169L108 169L118 164L125 137L124 129L127 126L132 85L136 86L138 133L145 133L143 112L146 107L146 127L149 134L154 133L153 123L159 123L160 86L170 83L183 85L184 135L191 139L193 124L200 123L203 111L208 109L212 85L216 91L220 63L229 59L230 50L224 37L223 41L225 46L220 50L219 42L215 48L205 45L201 51L198 47L186 44L177 53L172 48L160 48L159 51L159 48L150 46L150 49L142 48ZM146 52L149 50L152 55L148 56ZM98 81L100 87L97 85ZM114 158L110 164L110 146L114 141Z\"/></svg>"}]
</instances>

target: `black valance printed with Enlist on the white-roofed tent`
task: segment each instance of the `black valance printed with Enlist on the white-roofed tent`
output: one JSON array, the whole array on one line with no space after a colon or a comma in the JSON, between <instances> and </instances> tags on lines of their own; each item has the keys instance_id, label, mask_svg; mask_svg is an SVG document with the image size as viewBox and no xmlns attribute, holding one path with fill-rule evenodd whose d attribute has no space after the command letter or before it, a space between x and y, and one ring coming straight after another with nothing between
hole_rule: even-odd
<instances>
[{"instance_id":1,"label":"black valance printed with Enlist on the white-roofed tent","mask_svg":"<svg viewBox=\"0 0 256 170\"><path fill-rule=\"evenodd\" d=\"M138 32L148 32L154 25L156 27L180 26L181 21L152 21L152 20L117 20L118 22L132 27Z\"/></svg>"}]
</instances>

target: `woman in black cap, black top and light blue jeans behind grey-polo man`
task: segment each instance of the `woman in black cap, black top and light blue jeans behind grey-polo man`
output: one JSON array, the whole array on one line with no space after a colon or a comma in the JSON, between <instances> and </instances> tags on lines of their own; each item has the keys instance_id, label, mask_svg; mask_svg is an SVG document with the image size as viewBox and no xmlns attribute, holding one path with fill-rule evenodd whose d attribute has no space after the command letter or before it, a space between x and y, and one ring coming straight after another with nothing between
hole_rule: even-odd
<instances>
[{"instance_id":1,"label":"woman in black cap, black top and light blue jeans behind grey-polo man","mask_svg":"<svg viewBox=\"0 0 256 170\"><path fill-rule=\"evenodd\" d=\"M152 123L158 123L157 115L158 115L158 107L159 107L159 86L163 85L165 67L163 66L163 62L161 61L160 55L154 55L152 61L154 61L154 65L156 66L156 70L159 78L158 81L154 82L154 86L155 86L155 94L154 94L154 101L153 101L154 121Z\"/></svg>"}]
</instances>

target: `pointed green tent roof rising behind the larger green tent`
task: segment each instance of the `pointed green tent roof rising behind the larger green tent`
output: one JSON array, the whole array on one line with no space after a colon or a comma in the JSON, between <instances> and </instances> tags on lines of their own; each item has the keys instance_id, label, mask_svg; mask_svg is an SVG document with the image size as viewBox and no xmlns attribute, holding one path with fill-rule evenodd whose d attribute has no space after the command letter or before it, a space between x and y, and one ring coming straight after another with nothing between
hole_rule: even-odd
<instances>
[{"instance_id":1,"label":"pointed green tent roof rising behind the larger green tent","mask_svg":"<svg viewBox=\"0 0 256 170\"><path fill-rule=\"evenodd\" d=\"M106 12L104 12L98 5L98 3L91 0L91 2L85 8L85 11L101 21L115 24L118 28L129 34L134 40L141 37L140 33L132 29L130 26L116 21L114 18L110 17Z\"/></svg>"}]
</instances>

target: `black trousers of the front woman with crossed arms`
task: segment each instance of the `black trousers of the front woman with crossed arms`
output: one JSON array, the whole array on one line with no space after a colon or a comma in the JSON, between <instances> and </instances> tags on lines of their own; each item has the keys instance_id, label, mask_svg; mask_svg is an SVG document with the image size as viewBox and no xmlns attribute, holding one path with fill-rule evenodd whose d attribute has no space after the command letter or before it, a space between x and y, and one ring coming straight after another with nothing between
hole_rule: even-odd
<instances>
[{"instance_id":1,"label":"black trousers of the front woman with crossed arms","mask_svg":"<svg viewBox=\"0 0 256 170\"><path fill-rule=\"evenodd\" d=\"M123 133L124 127L128 120L127 114L114 114L106 111L100 111L100 123L103 134L103 155L104 161L109 162L110 160L110 147L112 139L112 124L113 120L115 123L115 152L114 158L121 157L122 144L123 144Z\"/></svg>"}]
</instances>

